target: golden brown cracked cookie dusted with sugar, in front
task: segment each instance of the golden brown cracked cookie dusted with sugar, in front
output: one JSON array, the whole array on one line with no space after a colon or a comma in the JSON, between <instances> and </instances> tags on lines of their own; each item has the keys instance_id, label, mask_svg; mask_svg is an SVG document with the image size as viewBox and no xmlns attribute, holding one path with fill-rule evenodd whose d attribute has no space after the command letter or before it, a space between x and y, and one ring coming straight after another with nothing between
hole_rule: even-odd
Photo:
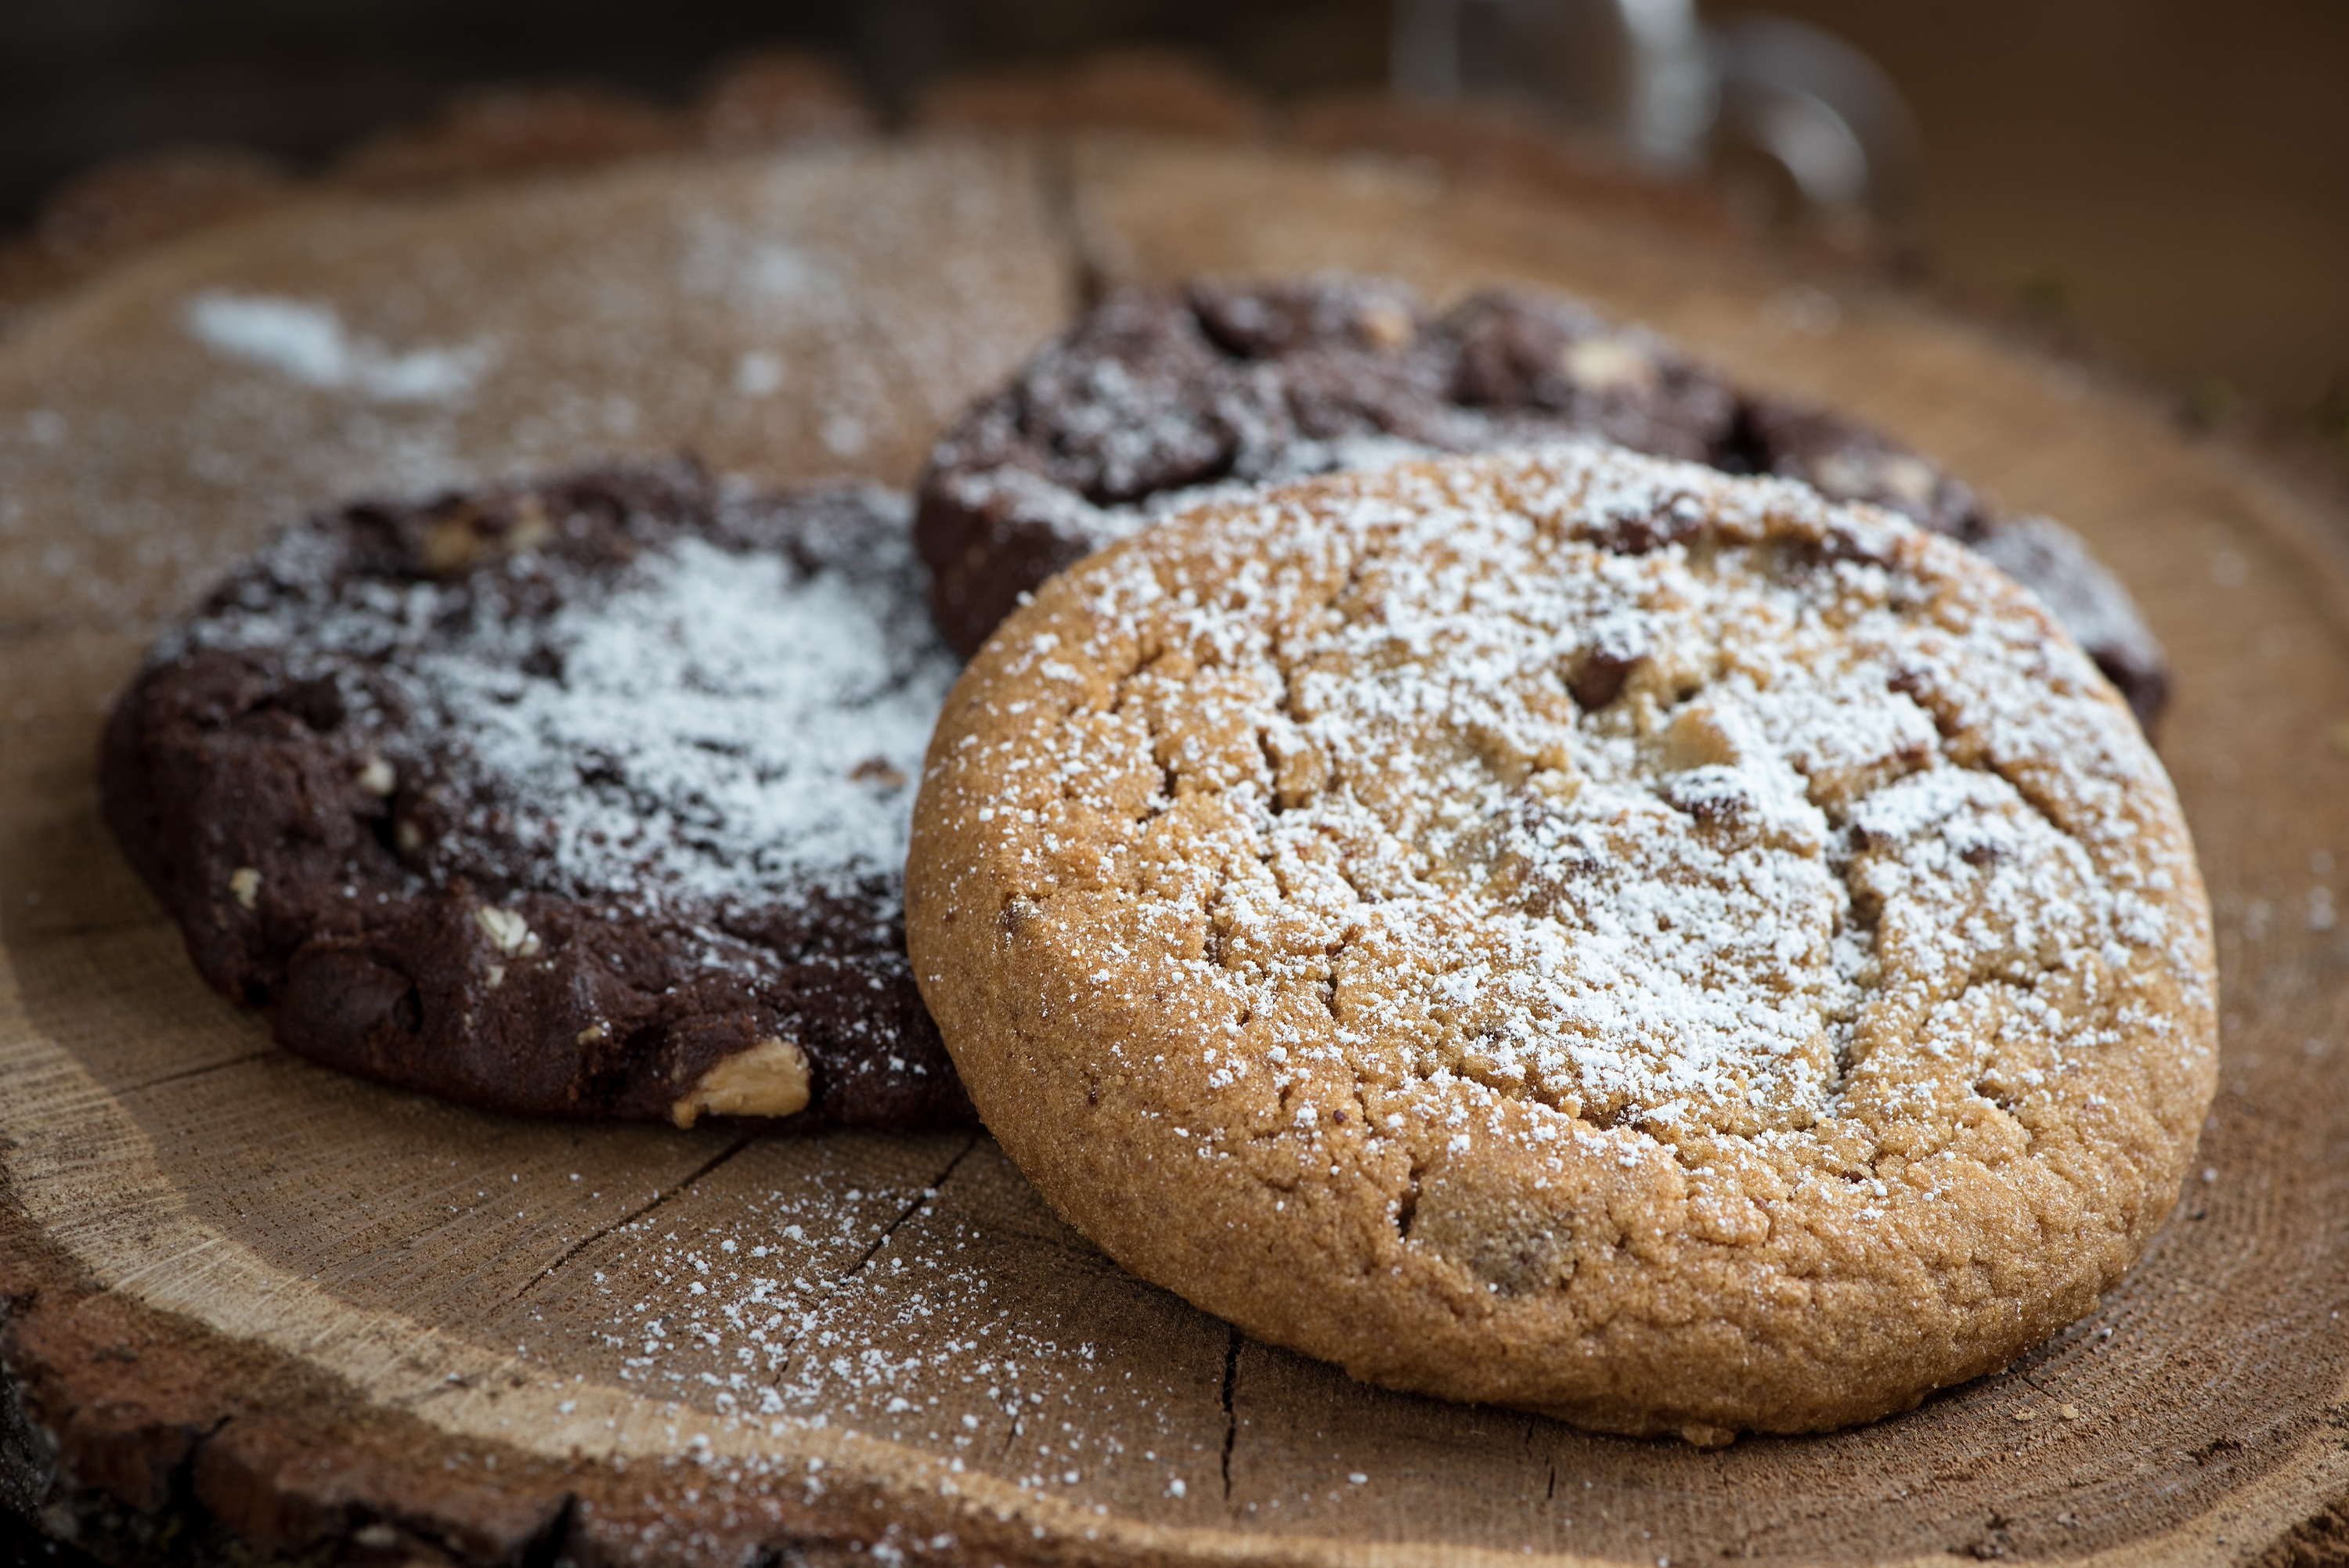
<instances>
[{"instance_id":1,"label":"golden brown cracked cookie dusted with sugar, in front","mask_svg":"<svg viewBox=\"0 0 2349 1568\"><path fill-rule=\"evenodd\" d=\"M2213 1091L2168 777L2027 594L1616 448L1226 500L963 674L907 869L1003 1148L1372 1383L1724 1441L2084 1314Z\"/></svg>"}]
</instances>

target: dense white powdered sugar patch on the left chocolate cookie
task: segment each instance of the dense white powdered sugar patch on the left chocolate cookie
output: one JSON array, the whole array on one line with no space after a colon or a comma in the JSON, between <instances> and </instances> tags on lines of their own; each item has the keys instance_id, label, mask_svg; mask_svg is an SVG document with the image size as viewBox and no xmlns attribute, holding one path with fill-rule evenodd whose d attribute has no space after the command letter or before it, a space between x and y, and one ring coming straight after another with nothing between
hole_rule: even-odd
<instances>
[{"instance_id":1,"label":"dense white powdered sugar patch on the left chocolate cookie","mask_svg":"<svg viewBox=\"0 0 2349 1568\"><path fill-rule=\"evenodd\" d=\"M411 690L576 892L895 878L956 674L909 587L686 538L545 622L472 627Z\"/></svg>"}]
</instances>

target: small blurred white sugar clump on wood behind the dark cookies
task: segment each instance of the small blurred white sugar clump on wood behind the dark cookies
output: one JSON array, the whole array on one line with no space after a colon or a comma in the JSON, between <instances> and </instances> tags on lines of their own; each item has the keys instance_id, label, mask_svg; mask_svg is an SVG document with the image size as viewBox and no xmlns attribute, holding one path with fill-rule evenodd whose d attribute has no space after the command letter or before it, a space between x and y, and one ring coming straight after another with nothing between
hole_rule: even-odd
<instances>
[{"instance_id":1,"label":"small blurred white sugar clump on wood behind the dark cookies","mask_svg":"<svg viewBox=\"0 0 2349 1568\"><path fill-rule=\"evenodd\" d=\"M230 359L261 364L305 387L350 390L385 404L463 397L489 369L489 347L390 350L343 326L334 305L272 293L207 289L188 300L188 331Z\"/></svg>"}]
</instances>

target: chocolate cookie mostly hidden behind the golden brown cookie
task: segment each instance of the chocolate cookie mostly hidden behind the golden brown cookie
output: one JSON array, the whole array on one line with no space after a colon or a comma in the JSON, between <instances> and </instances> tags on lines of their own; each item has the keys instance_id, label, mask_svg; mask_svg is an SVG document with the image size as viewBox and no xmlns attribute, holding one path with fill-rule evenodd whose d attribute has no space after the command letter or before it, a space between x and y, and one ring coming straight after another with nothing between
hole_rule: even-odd
<instances>
[{"instance_id":1,"label":"chocolate cookie mostly hidden behind the golden brown cookie","mask_svg":"<svg viewBox=\"0 0 2349 1568\"><path fill-rule=\"evenodd\" d=\"M2159 643L2058 523L1994 545L2011 523L1898 441L1515 289L1440 317L1405 284L1360 277L1118 291L937 444L914 538L940 631L972 653L1019 594L1207 486L1562 437L1804 479L1987 549L2055 608L2140 723L2161 714Z\"/></svg>"}]
</instances>

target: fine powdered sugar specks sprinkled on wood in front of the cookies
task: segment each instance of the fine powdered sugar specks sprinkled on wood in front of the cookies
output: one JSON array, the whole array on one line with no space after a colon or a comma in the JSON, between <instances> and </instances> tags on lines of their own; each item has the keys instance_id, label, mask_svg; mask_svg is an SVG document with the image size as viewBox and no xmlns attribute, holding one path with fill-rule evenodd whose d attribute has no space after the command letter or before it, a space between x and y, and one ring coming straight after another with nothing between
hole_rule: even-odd
<instances>
[{"instance_id":1,"label":"fine powdered sugar specks sprinkled on wood in front of the cookies","mask_svg":"<svg viewBox=\"0 0 2349 1568\"><path fill-rule=\"evenodd\" d=\"M787 1183L735 1181L601 1232L550 1282L564 1305L514 1322L524 1359L752 1432L916 1444L949 1474L1031 1493L1182 1495L1186 1474L1212 1476L1224 1411L1193 1376L1221 1359L1221 1324L1186 1324L1106 1270L1085 1289L1132 1298L1132 1317L1022 1289L1022 1239L1057 1221L991 1143L954 1141L947 1155L944 1136L893 1138L853 1169L794 1162Z\"/></svg>"}]
</instances>

